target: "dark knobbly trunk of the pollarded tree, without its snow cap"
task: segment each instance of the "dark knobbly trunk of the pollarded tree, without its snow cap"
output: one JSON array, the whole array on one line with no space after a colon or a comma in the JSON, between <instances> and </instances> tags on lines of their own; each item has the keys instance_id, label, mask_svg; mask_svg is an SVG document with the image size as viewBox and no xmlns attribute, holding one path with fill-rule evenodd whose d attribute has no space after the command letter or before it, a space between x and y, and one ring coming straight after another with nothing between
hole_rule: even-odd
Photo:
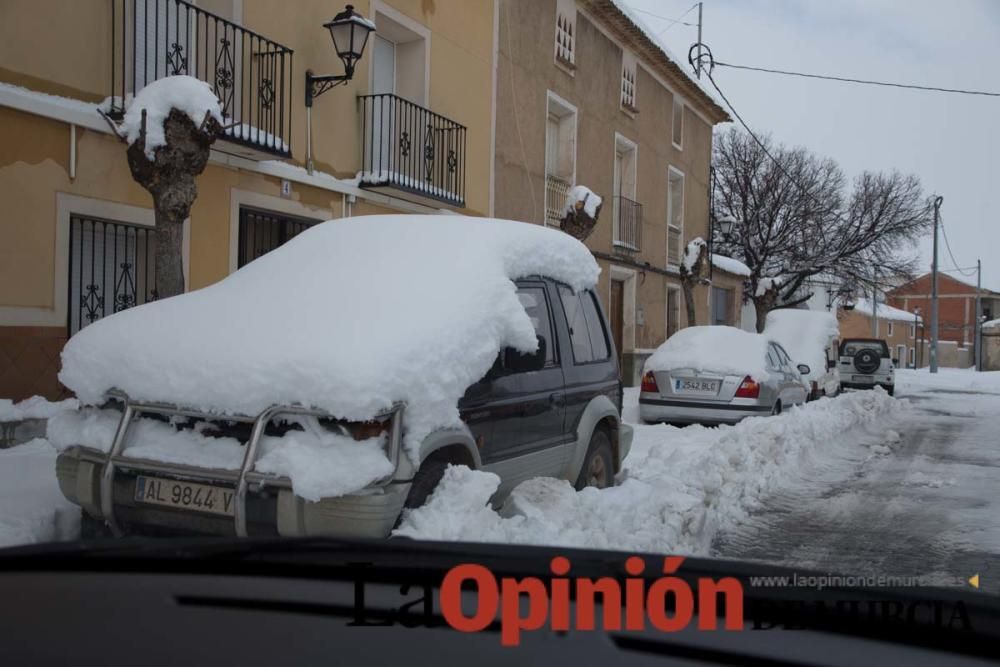
<instances>
[{"instance_id":1,"label":"dark knobbly trunk of the pollarded tree, without its snow cap","mask_svg":"<svg viewBox=\"0 0 1000 667\"><path fill-rule=\"evenodd\" d=\"M145 127L128 147L132 178L153 195L157 299L184 293L184 221L198 196L195 177L205 170L211 145L221 130L211 117L198 126L177 109L170 111L163 129L166 143L156 148L152 160L145 153Z\"/></svg>"}]
</instances>

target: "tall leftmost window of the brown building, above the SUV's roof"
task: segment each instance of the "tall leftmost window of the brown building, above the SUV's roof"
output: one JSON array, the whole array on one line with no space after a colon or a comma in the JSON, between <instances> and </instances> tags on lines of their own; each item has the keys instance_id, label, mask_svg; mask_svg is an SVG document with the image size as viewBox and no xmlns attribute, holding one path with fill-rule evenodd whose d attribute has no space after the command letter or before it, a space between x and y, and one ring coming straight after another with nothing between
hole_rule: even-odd
<instances>
[{"instance_id":1,"label":"tall leftmost window of the brown building, above the SUV's roof","mask_svg":"<svg viewBox=\"0 0 1000 667\"><path fill-rule=\"evenodd\" d=\"M576 107L550 92L545 125L545 225L559 225L575 179Z\"/></svg>"}]
</instances>

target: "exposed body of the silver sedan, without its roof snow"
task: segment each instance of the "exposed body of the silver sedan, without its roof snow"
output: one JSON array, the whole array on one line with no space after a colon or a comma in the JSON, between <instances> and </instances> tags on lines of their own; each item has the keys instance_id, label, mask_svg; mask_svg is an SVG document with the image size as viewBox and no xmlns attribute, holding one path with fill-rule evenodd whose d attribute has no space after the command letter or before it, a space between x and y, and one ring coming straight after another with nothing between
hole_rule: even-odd
<instances>
[{"instance_id":1,"label":"exposed body of the silver sedan, without its roof snow","mask_svg":"<svg viewBox=\"0 0 1000 667\"><path fill-rule=\"evenodd\" d=\"M646 422L733 424L805 403L809 392L802 375L808 375L809 367L796 366L774 342L767 344L766 356L767 372L762 377L690 368L647 371L639 416Z\"/></svg>"}]
</instances>

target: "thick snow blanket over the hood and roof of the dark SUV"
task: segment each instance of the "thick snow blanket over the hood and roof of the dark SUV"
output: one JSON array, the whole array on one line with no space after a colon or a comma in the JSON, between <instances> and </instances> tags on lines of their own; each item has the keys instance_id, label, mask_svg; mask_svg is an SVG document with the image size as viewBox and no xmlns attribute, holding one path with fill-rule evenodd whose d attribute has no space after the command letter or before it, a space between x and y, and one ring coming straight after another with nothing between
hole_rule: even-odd
<instances>
[{"instance_id":1,"label":"thick snow blanket over the hood and roof of the dark SUV","mask_svg":"<svg viewBox=\"0 0 1000 667\"><path fill-rule=\"evenodd\" d=\"M538 225L331 220L221 282L87 326L59 379L85 403L116 388L230 414L301 404L364 420L405 401L409 448L459 424L459 398L502 347L536 348L512 280L582 289L599 272L582 243Z\"/></svg>"}]
</instances>

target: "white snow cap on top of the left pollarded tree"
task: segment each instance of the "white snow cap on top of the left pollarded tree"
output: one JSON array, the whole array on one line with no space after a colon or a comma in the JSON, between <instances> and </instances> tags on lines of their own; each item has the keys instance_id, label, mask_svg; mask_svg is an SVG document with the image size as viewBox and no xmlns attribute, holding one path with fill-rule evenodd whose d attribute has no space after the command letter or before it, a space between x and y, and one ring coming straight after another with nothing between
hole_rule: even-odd
<instances>
[{"instance_id":1,"label":"white snow cap on top of the left pollarded tree","mask_svg":"<svg viewBox=\"0 0 1000 667\"><path fill-rule=\"evenodd\" d=\"M168 76L157 79L140 90L125 111L122 129L131 146L139 140L142 131L142 111L146 111L145 154L155 158L156 149L166 143L163 123L171 109L186 113L195 125L200 126L205 114L210 113L223 125L222 107L212 87L193 76Z\"/></svg>"}]
</instances>

